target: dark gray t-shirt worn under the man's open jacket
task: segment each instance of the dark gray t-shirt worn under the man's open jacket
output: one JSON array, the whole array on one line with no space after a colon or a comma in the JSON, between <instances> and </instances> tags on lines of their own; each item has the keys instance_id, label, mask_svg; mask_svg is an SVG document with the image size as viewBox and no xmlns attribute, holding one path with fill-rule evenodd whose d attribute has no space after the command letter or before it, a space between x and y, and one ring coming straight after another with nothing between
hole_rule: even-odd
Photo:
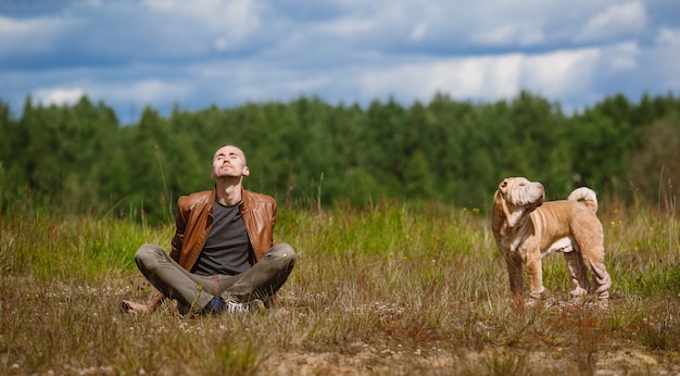
<instances>
[{"instance_id":1,"label":"dark gray t-shirt worn under the man's open jacket","mask_svg":"<svg viewBox=\"0 0 680 376\"><path fill-rule=\"evenodd\" d=\"M213 228L191 273L235 275L252 267L252 246L239 206L240 203L226 206L215 202Z\"/></svg>"}]
</instances>

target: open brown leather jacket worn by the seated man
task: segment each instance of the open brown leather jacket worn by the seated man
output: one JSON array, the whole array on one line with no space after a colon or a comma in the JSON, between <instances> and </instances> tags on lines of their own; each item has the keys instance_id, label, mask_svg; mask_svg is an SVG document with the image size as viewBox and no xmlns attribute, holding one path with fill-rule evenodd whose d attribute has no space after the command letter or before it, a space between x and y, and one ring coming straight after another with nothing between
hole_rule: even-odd
<instances>
[{"instance_id":1,"label":"open brown leather jacket worn by the seated man","mask_svg":"<svg viewBox=\"0 0 680 376\"><path fill-rule=\"evenodd\" d=\"M214 189L177 200L176 230L169 255L187 271L196 263L213 227L214 202ZM275 245L276 201L269 196L243 189L241 216L257 262Z\"/></svg>"}]
</instances>

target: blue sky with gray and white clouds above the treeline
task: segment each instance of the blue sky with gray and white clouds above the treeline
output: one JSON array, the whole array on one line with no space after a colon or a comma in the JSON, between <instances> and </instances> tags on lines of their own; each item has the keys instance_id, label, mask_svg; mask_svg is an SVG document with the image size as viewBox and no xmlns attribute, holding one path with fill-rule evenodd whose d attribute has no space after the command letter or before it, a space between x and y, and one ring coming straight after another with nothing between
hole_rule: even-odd
<instances>
[{"instance_id":1,"label":"blue sky with gray and white clouds above the treeline","mask_svg":"<svg viewBox=\"0 0 680 376\"><path fill-rule=\"evenodd\" d=\"M2 0L0 100L144 106L680 95L678 0Z\"/></svg>"}]
</instances>

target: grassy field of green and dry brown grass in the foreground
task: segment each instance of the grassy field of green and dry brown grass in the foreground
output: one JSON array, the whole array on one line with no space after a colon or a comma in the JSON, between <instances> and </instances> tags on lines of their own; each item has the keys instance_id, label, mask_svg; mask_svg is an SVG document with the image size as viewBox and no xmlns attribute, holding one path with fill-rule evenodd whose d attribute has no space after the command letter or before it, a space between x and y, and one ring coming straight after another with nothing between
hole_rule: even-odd
<instances>
[{"instance_id":1,"label":"grassy field of green and dry brown grass in the foreground","mask_svg":"<svg viewBox=\"0 0 680 376\"><path fill-rule=\"evenodd\" d=\"M680 228L675 208L604 205L610 308L571 300L562 255L544 299L518 306L477 209L279 209L297 250L264 314L118 311L152 289L133 255L169 246L171 223L0 217L3 375L680 374Z\"/></svg>"}]
</instances>

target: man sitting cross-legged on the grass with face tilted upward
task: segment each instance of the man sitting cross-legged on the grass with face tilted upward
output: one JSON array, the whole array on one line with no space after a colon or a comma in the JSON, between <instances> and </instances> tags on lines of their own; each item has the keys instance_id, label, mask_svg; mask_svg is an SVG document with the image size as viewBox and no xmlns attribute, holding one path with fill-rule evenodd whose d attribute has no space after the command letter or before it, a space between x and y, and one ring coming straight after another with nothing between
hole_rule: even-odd
<instances>
[{"instance_id":1,"label":"man sitting cross-legged on the grass with face tilted upward","mask_svg":"<svg viewBox=\"0 0 680 376\"><path fill-rule=\"evenodd\" d=\"M181 314L242 313L269 305L290 275L295 253L275 243L276 201L248 191L241 149L226 145L213 156L213 190L180 197L172 250L143 245L139 271L158 291L149 304L123 301L128 313L153 312L164 298Z\"/></svg>"}]
</instances>

